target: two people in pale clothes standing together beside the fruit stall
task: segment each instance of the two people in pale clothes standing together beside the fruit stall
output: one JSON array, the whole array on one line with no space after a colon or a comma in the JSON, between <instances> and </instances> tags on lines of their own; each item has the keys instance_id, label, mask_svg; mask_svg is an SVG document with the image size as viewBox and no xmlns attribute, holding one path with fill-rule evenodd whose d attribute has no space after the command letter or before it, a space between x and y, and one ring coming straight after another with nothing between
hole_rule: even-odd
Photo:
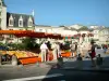
<instances>
[{"instance_id":1,"label":"two people in pale clothes standing together beside the fruit stall","mask_svg":"<svg viewBox=\"0 0 109 81\"><path fill-rule=\"evenodd\" d=\"M40 53L41 53L41 62L46 62L49 54L49 51L52 51L53 54L53 59L57 59L61 52L60 52L60 43L59 42L52 42L50 43L49 41L46 43L45 41L40 45Z\"/></svg>"}]
</instances>

